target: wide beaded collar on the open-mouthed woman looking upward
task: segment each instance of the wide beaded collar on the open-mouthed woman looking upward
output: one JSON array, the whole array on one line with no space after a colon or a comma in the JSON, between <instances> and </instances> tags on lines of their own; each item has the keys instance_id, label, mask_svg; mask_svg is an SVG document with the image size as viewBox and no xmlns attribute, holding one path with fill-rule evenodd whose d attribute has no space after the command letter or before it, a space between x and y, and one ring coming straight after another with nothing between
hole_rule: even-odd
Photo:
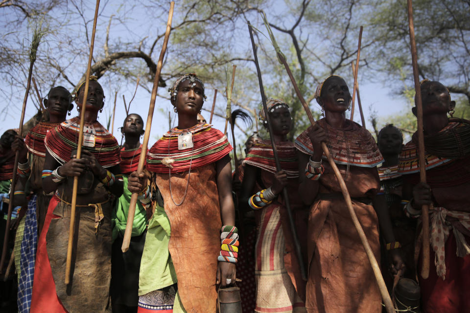
<instances>
[{"instance_id":1,"label":"wide beaded collar on the open-mouthed woman looking upward","mask_svg":"<svg viewBox=\"0 0 470 313\"><path fill-rule=\"evenodd\" d=\"M346 120L344 130L328 125L324 118L317 121L328 135L327 146L336 164L350 164L360 167L376 167L383 162L374 137L359 124ZM310 126L311 127L311 126ZM305 130L295 139L295 147L307 155L313 155L313 146ZM323 158L326 158L323 155Z\"/></svg>"}]
</instances>

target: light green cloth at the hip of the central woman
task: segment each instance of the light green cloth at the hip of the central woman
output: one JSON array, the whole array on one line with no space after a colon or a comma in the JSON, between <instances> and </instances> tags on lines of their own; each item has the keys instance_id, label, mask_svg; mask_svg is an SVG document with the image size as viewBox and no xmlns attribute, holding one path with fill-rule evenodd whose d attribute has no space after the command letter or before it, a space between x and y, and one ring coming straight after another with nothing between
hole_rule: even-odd
<instances>
[{"instance_id":1,"label":"light green cloth at the hip of the central woman","mask_svg":"<svg viewBox=\"0 0 470 313\"><path fill-rule=\"evenodd\" d=\"M157 205L148 222L147 236L141 258L139 295L171 286L177 282L176 272L168 251L170 221L164 208ZM176 301L175 300L175 304ZM174 311L173 312L178 312ZM184 312L184 311L180 311Z\"/></svg>"}]
</instances>

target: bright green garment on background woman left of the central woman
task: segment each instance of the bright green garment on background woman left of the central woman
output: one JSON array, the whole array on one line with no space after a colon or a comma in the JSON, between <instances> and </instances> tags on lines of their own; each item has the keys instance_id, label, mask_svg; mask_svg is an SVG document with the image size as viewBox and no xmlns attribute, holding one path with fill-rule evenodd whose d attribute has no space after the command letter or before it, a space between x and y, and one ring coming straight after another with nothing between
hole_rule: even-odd
<instances>
[{"instance_id":1,"label":"bright green garment on background woman left of the central woman","mask_svg":"<svg viewBox=\"0 0 470 313\"><path fill-rule=\"evenodd\" d=\"M115 208L113 210L113 241L118 238L118 233L124 236L127 224L127 215L129 214L129 203L131 202L132 193L127 189L128 176L123 175L124 190L122 195L116 201ZM147 224L147 215L145 208L142 206L141 201L137 201L136 213L134 215L134 223L132 224L132 236L140 236L145 230Z\"/></svg>"}]
</instances>

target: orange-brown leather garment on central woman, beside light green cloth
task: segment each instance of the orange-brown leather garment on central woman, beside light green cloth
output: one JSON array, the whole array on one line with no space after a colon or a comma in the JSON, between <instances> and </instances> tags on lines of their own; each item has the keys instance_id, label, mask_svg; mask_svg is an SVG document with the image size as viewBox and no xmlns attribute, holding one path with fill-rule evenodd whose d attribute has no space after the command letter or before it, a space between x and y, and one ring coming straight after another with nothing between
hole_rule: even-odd
<instances>
[{"instance_id":1,"label":"orange-brown leather garment on central woman, beside light green cloth","mask_svg":"<svg viewBox=\"0 0 470 313\"><path fill-rule=\"evenodd\" d=\"M176 203L183 200L189 177L188 193L180 206L171 200L168 174L156 174L171 225L168 250L178 278L178 293L188 313L216 310L215 275L222 222L215 174L215 163L191 170L190 175L171 174Z\"/></svg>"}]
</instances>

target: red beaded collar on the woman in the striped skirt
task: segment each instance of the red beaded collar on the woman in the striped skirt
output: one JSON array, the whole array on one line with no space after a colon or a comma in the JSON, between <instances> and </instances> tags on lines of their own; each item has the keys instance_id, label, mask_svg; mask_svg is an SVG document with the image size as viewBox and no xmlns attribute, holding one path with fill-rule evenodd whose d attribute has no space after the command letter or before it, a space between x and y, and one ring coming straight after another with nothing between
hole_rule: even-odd
<instances>
[{"instance_id":1,"label":"red beaded collar on the woman in the striped skirt","mask_svg":"<svg viewBox=\"0 0 470 313\"><path fill-rule=\"evenodd\" d=\"M282 141L276 143L281 169L287 174L287 178L298 178L298 160L296 149L292 142ZM253 165L269 173L276 174L276 162L274 161L273 147L270 140L262 140L255 144L248 152L243 164Z\"/></svg>"}]
</instances>

